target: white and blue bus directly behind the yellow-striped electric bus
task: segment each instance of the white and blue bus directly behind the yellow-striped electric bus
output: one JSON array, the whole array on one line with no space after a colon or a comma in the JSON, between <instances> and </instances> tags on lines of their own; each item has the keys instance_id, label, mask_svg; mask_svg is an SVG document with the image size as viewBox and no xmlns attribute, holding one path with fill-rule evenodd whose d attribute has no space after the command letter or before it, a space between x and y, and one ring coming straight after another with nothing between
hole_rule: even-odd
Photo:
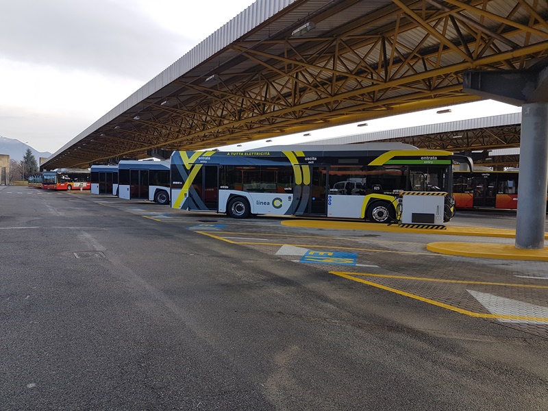
<instances>
[{"instance_id":1,"label":"white and blue bus directly behind the yellow-striped electric bus","mask_svg":"<svg viewBox=\"0 0 548 411\"><path fill-rule=\"evenodd\" d=\"M122 160L118 164L119 197L169 204L169 162Z\"/></svg>"}]
</instances>

